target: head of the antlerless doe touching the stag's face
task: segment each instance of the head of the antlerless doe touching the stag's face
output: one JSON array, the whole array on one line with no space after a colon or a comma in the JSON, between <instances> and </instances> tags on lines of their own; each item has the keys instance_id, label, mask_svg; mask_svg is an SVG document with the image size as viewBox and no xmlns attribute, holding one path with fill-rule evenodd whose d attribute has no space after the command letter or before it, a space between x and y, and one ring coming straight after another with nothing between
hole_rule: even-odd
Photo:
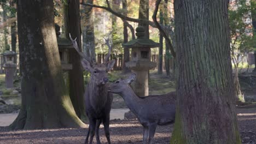
<instances>
[{"instance_id":1,"label":"head of the antlerless doe touching the stag's face","mask_svg":"<svg viewBox=\"0 0 256 144\"><path fill-rule=\"evenodd\" d=\"M115 82L110 83L108 86L108 92L122 93L126 88L130 88L130 83L136 79L136 74L131 74L127 79L118 79Z\"/></svg>"}]
</instances>

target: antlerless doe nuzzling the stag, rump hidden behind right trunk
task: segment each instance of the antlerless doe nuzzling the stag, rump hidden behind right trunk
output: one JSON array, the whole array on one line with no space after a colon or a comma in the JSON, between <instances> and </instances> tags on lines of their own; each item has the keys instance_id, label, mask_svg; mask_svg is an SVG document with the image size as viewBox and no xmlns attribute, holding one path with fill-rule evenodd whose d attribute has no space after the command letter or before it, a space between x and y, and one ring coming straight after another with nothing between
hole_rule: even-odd
<instances>
[{"instance_id":1,"label":"antlerless doe nuzzling the stag, rump hidden behind right trunk","mask_svg":"<svg viewBox=\"0 0 256 144\"><path fill-rule=\"evenodd\" d=\"M152 144L157 125L174 123L176 92L138 97L130 87L135 78L136 74L132 74L128 79L110 83L108 91L123 97L126 105L143 126L143 144L147 143L148 137L149 143Z\"/></svg>"}]
</instances>

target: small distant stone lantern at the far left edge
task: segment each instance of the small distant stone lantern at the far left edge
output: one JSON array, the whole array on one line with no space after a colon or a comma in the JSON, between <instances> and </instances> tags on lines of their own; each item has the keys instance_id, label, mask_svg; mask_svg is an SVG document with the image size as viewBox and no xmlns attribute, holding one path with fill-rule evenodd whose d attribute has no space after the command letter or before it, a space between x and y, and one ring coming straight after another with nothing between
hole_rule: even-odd
<instances>
[{"instance_id":1,"label":"small distant stone lantern at the far left edge","mask_svg":"<svg viewBox=\"0 0 256 144\"><path fill-rule=\"evenodd\" d=\"M2 54L3 57L3 68L5 71L5 87L13 88L13 79L17 65L14 63L14 58L17 53L7 49Z\"/></svg>"}]
</instances>

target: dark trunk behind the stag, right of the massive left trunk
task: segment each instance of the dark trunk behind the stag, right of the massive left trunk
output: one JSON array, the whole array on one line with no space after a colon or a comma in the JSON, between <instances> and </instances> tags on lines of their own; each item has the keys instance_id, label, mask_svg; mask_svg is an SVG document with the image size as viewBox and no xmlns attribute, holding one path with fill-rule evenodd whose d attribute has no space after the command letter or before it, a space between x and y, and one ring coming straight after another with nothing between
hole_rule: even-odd
<instances>
[{"instance_id":1,"label":"dark trunk behind the stag, right of the massive left trunk","mask_svg":"<svg viewBox=\"0 0 256 144\"><path fill-rule=\"evenodd\" d=\"M79 0L68 0L66 6L66 37L69 39L69 33L72 37L77 37L77 43L81 50L81 27L80 27L80 3ZM83 68L80 62L80 56L75 49L69 50L69 62L73 68L69 71L69 96L74 106L75 113L79 118L85 118L84 106L84 76Z\"/></svg>"}]
</instances>

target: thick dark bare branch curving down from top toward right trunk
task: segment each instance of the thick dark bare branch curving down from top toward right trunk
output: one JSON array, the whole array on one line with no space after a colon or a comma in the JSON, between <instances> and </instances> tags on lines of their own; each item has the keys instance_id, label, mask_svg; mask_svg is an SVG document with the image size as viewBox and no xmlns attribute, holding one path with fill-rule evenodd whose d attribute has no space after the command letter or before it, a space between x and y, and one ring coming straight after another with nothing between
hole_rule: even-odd
<instances>
[{"instance_id":1,"label":"thick dark bare branch curving down from top toward right trunk","mask_svg":"<svg viewBox=\"0 0 256 144\"><path fill-rule=\"evenodd\" d=\"M159 8L159 4L160 4L161 0L158 0L155 2L155 10L154 10L154 14L152 16L153 21L155 22L155 26L159 29L159 32L162 34L162 36L165 38L168 46L170 47L171 53L173 57L176 57L176 52L173 49L171 40L168 38L168 35L165 33L164 29L162 29L162 27L160 26L160 24L158 23L158 21L156 20L156 15L158 14L158 8Z\"/></svg>"}]
</instances>

